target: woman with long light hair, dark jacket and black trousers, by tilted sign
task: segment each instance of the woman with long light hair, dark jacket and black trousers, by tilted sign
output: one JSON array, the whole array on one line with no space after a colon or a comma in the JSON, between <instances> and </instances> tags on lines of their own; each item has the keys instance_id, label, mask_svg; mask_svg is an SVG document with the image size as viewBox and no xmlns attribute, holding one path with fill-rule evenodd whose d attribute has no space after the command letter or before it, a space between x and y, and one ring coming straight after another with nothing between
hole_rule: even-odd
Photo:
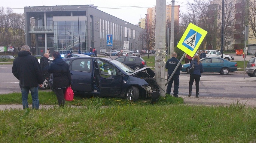
<instances>
[{"instance_id":1,"label":"woman with long light hair, dark jacket and black trousers, by tilted sign","mask_svg":"<svg viewBox=\"0 0 256 143\"><path fill-rule=\"evenodd\" d=\"M192 85L194 83L194 80L196 80L196 97L198 98L199 81L200 81L201 73L203 73L203 64L201 63L200 58L197 55L195 55L193 61L190 62L188 69L192 67L193 63L195 64L195 67L194 67L194 71L190 74L190 78L189 78L188 97L190 97L192 94Z\"/></svg>"}]
</instances>

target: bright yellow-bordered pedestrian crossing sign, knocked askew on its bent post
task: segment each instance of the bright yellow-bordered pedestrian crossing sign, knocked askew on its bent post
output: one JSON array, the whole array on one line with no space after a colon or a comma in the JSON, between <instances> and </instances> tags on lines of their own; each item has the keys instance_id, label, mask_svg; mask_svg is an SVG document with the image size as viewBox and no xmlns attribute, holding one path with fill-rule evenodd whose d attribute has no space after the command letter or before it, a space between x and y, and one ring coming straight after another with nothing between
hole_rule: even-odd
<instances>
[{"instance_id":1,"label":"bright yellow-bordered pedestrian crossing sign, knocked askew on its bent post","mask_svg":"<svg viewBox=\"0 0 256 143\"><path fill-rule=\"evenodd\" d=\"M187 53L189 56L193 57L206 34L206 30L203 30L202 28L190 23L181 37L177 47Z\"/></svg>"}]
</instances>

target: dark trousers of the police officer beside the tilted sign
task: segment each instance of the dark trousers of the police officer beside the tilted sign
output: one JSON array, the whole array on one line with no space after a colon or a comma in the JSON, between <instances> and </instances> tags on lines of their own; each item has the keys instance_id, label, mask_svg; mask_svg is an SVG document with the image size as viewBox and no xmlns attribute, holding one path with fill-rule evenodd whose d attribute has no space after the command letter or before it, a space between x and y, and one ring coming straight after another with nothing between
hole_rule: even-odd
<instances>
[{"instance_id":1,"label":"dark trousers of the police officer beside the tilted sign","mask_svg":"<svg viewBox=\"0 0 256 143\"><path fill-rule=\"evenodd\" d=\"M167 80L169 79L171 75L168 75ZM179 93L179 84L180 84L180 78L178 74L174 74L171 78L171 80L169 81L167 88L166 88L166 93L167 94L171 94L171 88L172 88L172 83L174 82L174 88L173 88L173 96L178 96Z\"/></svg>"}]
</instances>

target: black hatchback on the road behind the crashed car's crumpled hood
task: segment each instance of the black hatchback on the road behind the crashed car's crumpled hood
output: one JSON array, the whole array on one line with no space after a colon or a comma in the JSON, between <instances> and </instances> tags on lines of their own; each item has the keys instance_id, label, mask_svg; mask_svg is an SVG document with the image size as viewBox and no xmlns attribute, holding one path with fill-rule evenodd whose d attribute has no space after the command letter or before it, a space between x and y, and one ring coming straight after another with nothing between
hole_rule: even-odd
<instances>
[{"instance_id":1,"label":"black hatchback on the road behind the crashed car's crumpled hood","mask_svg":"<svg viewBox=\"0 0 256 143\"><path fill-rule=\"evenodd\" d=\"M144 59L142 59L141 57L121 56L121 57L116 58L115 60L126 64L128 67L130 67L131 69L133 69L135 71L147 66L146 61L144 61Z\"/></svg>"}]
</instances>

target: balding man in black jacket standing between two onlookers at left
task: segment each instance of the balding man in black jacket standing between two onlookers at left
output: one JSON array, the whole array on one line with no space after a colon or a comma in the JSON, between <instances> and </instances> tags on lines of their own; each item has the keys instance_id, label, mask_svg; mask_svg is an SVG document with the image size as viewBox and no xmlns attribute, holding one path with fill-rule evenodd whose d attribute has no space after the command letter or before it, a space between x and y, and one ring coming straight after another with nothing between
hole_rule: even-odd
<instances>
[{"instance_id":1,"label":"balding man in black jacket standing between two onlookers at left","mask_svg":"<svg viewBox=\"0 0 256 143\"><path fill-rule=\"evenodd\" d=\"M40 67L41 67L44 79L48 79L50 77L50 73L48 73L48 69L50 67L48 58L49 58L49 54L44 53L44 56L41 57L40 59Z\"/></svg>"}]
</instances>

